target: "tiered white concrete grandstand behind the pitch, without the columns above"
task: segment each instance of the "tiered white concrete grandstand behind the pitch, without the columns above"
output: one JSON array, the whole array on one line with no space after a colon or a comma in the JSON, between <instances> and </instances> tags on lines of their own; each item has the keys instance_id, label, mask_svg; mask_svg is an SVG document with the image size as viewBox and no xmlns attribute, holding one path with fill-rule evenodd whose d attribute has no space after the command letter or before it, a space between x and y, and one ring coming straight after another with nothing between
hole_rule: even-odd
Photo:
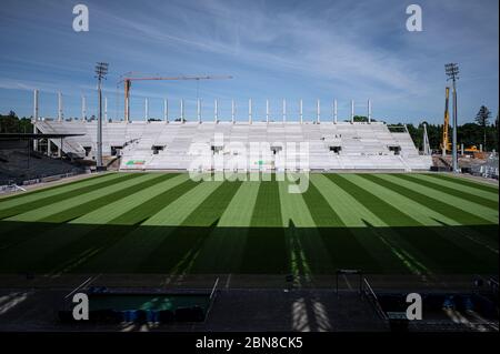
<instances>
[{"instance_id":1,"label":"tiered white concrete grandstand behind the pitch, without the columns above","mask_svg":"<svg viewBox=\"0 0 500 354\"><path fill-rule=\"evenodd\" d=\"M63 151L92 159L96 121L39 120L36 128L42 133L84 133L69 138ZM191 151L193 144L209 146L211 156L203 162L203 170L214 170L213 155L242 154L241 146L248 151L256 142L269 144L269 161L249 160L238 170L259 170L262 165L278 170L274 162L284 156L287 144L298 146L301 142L309 143L311 171L414 171L429 170L432 164L430 156L419 154L404 127L391 131L382 122L104 122L102 136L103 154L121 155L121 170L190 170L198 158ZM216 142L216 136L223 136L223 142ZM299 152L287 154L290 158L298 159ZM228 169L232 166L224 164Z\"/></svg>"}]
</instances>

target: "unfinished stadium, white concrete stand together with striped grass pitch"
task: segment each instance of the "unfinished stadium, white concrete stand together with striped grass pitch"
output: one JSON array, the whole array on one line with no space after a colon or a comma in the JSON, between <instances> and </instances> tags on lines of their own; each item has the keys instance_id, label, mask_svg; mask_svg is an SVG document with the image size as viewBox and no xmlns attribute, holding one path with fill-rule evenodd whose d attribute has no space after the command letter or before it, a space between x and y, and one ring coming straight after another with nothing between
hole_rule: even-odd
<instances>
[{"instance_id":1,"label":"unfinished stadium, white concrete stand together with striped grass pitch","mask_svg":"<svg viewBox=\"0 0 500 354\"><path fill-rule=\"evenodd\" d=\"M18 136L31 138L33 156L52 160L57 151L68 165L99 159L97 122L33 123L33 134ZM256 292L281 299L280 289L327 296L314 305L324 312L317 316L336 323L346 314L326 294L341 292L347 309L366 311L353 330L408 328L394 313L412 289L428 303L457 296L458 307L481 311L481 320L466 312L456 323L428 306L432 320L413 331L494 331L488 309L498 284L498 184L430 172L432 156L418 151L406 127L324 122L318 112L313 121L107 120L101 129L108 169L80 166L62 183L31 179L26 188L34 183L33 191L19 186L1 200L0 271L8 287L62 286L68 294L58 292L60 299L84 291L94 306L91 328L167 323L160 326L167 331L186 330L182 323L226 328L227 312L243 311L234 299L261 307ZM484 285L471 292L474 282ZM151 305L158 293L170 305ZM49 328L73 325L64 310L71 305L60 301ZM303 306L288 295L280 306L290 301ZM231 328L352 326L347 320L312 328L293 318L284 326L251 323Z\"/></svg>"}]
</instances>

